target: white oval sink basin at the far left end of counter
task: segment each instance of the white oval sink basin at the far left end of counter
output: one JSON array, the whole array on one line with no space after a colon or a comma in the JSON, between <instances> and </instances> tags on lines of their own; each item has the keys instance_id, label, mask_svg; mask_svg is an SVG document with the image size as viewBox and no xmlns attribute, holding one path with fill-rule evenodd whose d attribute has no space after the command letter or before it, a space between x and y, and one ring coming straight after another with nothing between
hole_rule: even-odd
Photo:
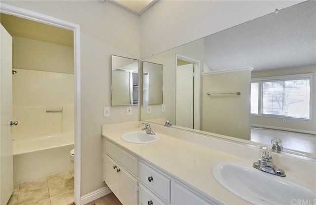
<instances>
[{"instance_id":1,"label":"white oval sink basin at the far left end of counter","mask_svg":"<svg viewBox=\"0 0 316 205\"><path fill-rule=\"evenodd\" d=\"M152 142L158 141L160 139L160 136L149 135L149 134L146 134L145 132L130 132L130 133L125 133L120 138L124 141L131 142L131 143L145 144L145 143L152 143Z\"/></svg>"}]
</instances>

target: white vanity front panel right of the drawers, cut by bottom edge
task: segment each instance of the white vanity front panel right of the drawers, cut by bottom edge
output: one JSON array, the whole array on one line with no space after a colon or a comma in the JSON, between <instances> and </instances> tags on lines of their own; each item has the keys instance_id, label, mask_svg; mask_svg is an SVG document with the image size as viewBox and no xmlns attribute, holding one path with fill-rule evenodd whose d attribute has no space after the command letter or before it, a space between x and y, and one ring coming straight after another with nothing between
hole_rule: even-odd
<instances>
[{"instance_id":1,"label":"white vanity front panel right of the drawers, cut by bottom edge","mask_svg":"<svg viewBox=\"0 0 316 205\"><path fill-rule=\"evenodd\" d=\"M174 183L174 204L175 205L210 205L211 203L205 201L201 197L197 196L191 190L186 187Z\"/></svg>"}]
</instances>

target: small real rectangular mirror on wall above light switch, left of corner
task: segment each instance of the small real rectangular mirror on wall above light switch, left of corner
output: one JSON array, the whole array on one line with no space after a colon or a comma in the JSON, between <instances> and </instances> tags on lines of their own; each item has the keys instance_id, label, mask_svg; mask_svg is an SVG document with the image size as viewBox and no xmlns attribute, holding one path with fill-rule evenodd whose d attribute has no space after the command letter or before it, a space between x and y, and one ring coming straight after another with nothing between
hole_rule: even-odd
<instances>
[{"instance_id":1,"label":"small real rectangular mirror on wall above light switch, left of corner","mask_svg":"<svg viewBox=\"0 0 316 205\"><path fill-rule=\"evenodd\" d=\"M112 55L112 105L138 104L138 60Z\"/></svg>"}]
</instances>

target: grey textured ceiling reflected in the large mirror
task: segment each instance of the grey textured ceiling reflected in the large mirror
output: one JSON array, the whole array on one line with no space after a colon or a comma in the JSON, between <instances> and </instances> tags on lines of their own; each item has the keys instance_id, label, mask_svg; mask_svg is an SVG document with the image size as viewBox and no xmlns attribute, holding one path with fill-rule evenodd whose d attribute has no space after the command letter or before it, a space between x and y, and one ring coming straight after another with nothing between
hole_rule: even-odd
<instances>
[{"instance_id":1,"label":"grey textured ceiling reflected in the large mirror","mask_svg":"<svg viewBox=\"0 0 316 205\"><path fill-rule=\"evenodd\" d=\"M316 1L306 1L204 37L211 70L316 65Z\"/></svg>"}]
</instances>

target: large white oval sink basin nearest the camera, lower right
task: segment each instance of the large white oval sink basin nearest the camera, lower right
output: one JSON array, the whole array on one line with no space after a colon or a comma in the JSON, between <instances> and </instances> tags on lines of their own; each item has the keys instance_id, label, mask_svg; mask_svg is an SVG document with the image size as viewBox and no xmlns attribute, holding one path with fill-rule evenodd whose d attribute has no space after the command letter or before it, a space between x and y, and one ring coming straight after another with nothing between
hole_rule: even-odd
<instances>
[{"instance_id":1,"label":"large white oval sink basin nearest the camera, lower right","mask_svg":"<svg viewBox=\"0 0 316 205\"><path fill-rule=\"evenodd\" d=\"M292 176L276 176L257 170L252 163L222 162L212 169L215 179L226 189L255 205L294 205L316 202L316 190Z\"/></svg>"}]
</instances>

